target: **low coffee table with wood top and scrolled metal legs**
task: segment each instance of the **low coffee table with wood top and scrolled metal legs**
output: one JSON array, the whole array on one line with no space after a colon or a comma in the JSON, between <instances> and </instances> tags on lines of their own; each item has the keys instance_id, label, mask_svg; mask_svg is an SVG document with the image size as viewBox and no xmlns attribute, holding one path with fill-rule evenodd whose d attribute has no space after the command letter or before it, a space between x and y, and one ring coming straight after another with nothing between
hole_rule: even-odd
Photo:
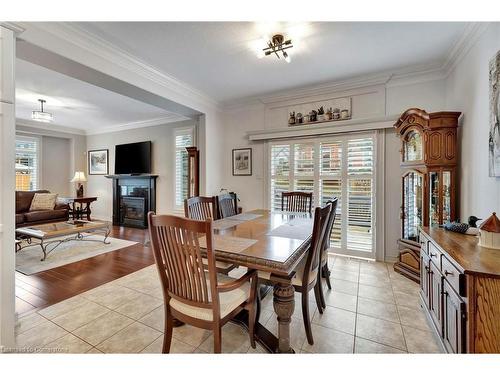
<instances>
[{"instance_id":1,"label":"low coffee table with wood top and scrolled metal legs","mask_svg":"<svg viewBox=\"0 0 500 375\"><path fill-rule=\"evenodd\" d=\"M59 223L32 225L16 229L16 239L24 240L17 251L31 246L40 246L44 261L60 244L68 241L96 241L110 244L108 236L110 225L106 221L71 220ZM96 234L104 235L104 239L89 238Z\"/></svg>"}]
</instances>

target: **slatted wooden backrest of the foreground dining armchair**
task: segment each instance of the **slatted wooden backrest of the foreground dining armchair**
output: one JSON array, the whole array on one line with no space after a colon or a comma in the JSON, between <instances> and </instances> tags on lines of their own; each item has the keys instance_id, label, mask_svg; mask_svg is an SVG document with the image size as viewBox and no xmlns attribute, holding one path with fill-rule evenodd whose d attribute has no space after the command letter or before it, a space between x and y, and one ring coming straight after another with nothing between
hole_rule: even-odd
<instances>
[{"instance_id":1,"label":"slatted wooden backrest of the foreground dining armchair","mask_svg":"<svg viewBox=\"0 0 500 375\"><path fill-rule=\"evenodd\" d=\"M211 221L154 215L151 212L148 214L148 221L165 299L175 298L183 303L205 308L214 308L215 303L218 305ZM207 281L200 250L199 237L203 235L207 242L210 283Z\"/></svg>"}]
</instances>

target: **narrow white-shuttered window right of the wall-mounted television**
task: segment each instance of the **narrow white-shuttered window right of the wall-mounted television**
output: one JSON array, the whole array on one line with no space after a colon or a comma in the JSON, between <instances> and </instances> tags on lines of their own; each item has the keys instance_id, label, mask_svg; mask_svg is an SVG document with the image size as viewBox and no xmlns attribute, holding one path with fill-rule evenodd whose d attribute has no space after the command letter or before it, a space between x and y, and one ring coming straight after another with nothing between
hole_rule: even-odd
<instances>
[{"instance_id":1,"label":"narrow white-shuttered window right of the wall-mounted television","mask_svg":"<svg viewBox=\"0 0 500 375\"><path fill-rule=\"evenodd\" d=\"M186 147L193 146L193 129L175 131L175 208L181 210L188 194L188 154Z\"/></svg>"}]
</instances>

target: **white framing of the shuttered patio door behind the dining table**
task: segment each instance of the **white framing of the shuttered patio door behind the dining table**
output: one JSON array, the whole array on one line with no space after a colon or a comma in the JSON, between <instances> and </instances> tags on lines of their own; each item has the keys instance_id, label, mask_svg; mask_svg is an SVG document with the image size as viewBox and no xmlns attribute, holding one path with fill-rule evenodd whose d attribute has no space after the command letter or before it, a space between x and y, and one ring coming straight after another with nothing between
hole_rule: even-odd
<instances>
[{"instance_id":1,"label":"white framing of the shuttered patio door behind the dining table","mask_svg":"<svg viewBox=\"0 0 500 375\"><path fill-rule=\"evenodd\" d=\"M349 177L348 173L348 141L356 140L356 139L365 139L371 138L373 142L372 149L372 173L371 175L362 174L355 175ZM342 159L341 159L341 171L340 174L325 174L321 173L321 143L328 142L342 142ZM332 248L331 251L337 254L349 255L355 257L363 257L375 259L378 254L377 249L380 245L379 236L380 228L377 227L377 217L379 217L379 212L377 210L377 186L379 186L379 150L378 150L378 142L379 136L376 131L368 131L368 132L355 132L355 133L345 133L339 135L327 135L327 136L315 136L315 137L297 137L297 138L288 138L282 140L275 140L267 142L267 152L266 152L266 168L268 168L268 173L266 173L267 181L266 181L266 207L272 210L271 199L272 199L272 181L275 178L272 175L271 171L271 163L272 163L272 149L274 145L289 145L290 147L290 171L288 176L289 186L295 187L295 144L306 144L313 143L314 147L314 174L313 177L308 176L309 178L314 179L314 188L313 188L313 206L317 206L318 203L321 202L320 189L322 180L336 179L340 178L341 180L341 218L342 218L342 226L341 226L341 247L340 248ZM383 145L382 145L383 146ZM382 168L383 169L383 168ZM383 176L383 170L382 170ZM327 177L327 178L325 178ZM352 179L371 179L371 191L372 191L372 210L371 210L371 230L372 230L372 238L371 238L371 251L361 251L350 249L347 247L347 236L348 236L348 187L349 180ZM382 236L383 237L383 236Z\"/></svg>"}]
</instances>

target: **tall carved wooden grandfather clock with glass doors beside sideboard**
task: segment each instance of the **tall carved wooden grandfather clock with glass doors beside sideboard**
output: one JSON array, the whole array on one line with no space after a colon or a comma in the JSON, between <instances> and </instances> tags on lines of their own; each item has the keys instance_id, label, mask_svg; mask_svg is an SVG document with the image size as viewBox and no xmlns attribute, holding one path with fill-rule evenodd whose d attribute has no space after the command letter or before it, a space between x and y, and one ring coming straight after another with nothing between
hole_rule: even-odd
<instances>
[{"instance_id":1,"label":"tall carved wooden grandfather clock with glass doors beside sideboard","mask_svg":"<svg viewBox=\"0 0 500 375\"><path fill-rule=\"evenodd\" d=\"M460 112L408 109L394 124L401 138L401 238L394 270L419 282L418 228L458 218L457 127Z\"/></svg>"}]
</instances>

